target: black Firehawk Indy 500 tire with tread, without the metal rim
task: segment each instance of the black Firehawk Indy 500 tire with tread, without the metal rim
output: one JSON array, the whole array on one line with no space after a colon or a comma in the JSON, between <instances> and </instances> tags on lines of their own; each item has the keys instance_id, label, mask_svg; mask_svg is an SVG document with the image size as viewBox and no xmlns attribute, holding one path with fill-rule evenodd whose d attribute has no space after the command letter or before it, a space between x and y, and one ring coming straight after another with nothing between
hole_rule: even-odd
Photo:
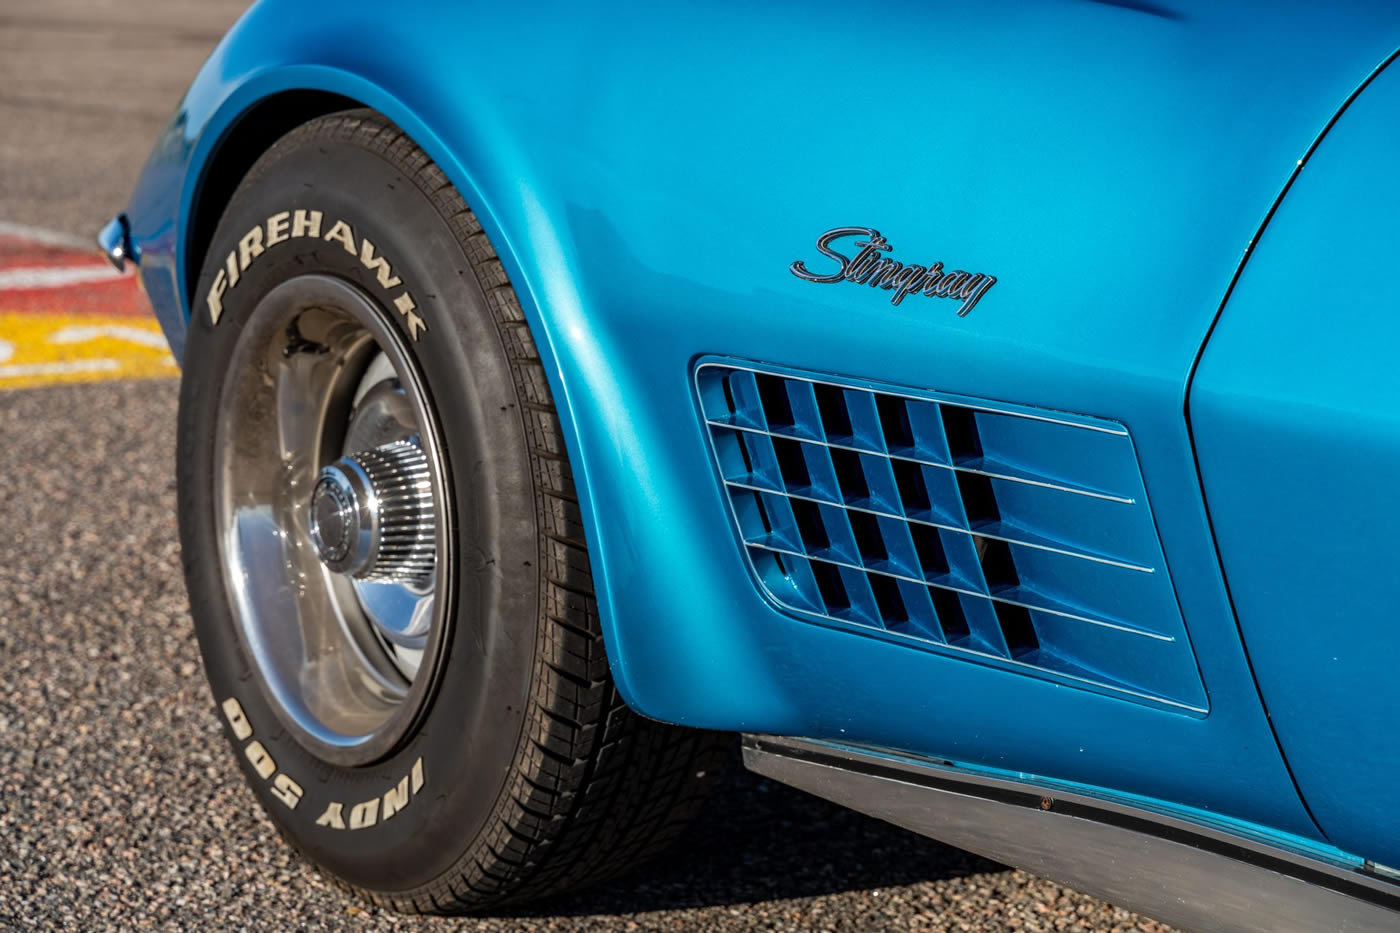
<instances>
[{"instance_id":1,"label":"black Firehawk Indy 500 tire with tread, without the metal rim","mask_svg":"<svg viewBox=\"0 0 1400 933\"><path fill-rule=\"evenodd\" d=\"M395 312L399 289L385 289L343 244L312 235L256 256L223 293L216 322L204 296L224 258L245 231L297 209L372 240L412 287L427 329ZM416 726L360 765L326 761L279 717L239 640L216 528L216 422L234 345L259 300L307 272L354 284L402 332L441 419L456 546L480 552L454 580L438 675ZM620 700L531 331L476 217L423 150L370 111L293 130L234 193L195 294L178 447L185 579L218 717L283 835L340 884L410 912L553 895L636 866L675 838L728 742L645 720ZM414 778L393 818L357 831L318 824L333 801L393 792L417 762L426 782ZM301 792L294 807L283 775Z\"/></svg>"}]
</instances>

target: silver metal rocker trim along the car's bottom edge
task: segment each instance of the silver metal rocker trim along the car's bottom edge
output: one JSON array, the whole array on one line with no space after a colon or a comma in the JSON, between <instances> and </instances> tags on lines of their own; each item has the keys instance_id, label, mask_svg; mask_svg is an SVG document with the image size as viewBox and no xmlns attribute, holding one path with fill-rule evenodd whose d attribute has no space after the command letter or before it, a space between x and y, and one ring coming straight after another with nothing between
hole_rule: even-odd
<instances>
[{"instance_id":1,"label":"silver metal rocker trim along the car's bottom edge","mask_svg":"<svg viewBox=\"0 0 1400 933\"><path fill-rule=\"evenodd\" d=\"M770 735L750 770L1168 923L1215 932L1400 927L1400 885L1319 855L946 763Z\"/></svg>"}]
</instances>

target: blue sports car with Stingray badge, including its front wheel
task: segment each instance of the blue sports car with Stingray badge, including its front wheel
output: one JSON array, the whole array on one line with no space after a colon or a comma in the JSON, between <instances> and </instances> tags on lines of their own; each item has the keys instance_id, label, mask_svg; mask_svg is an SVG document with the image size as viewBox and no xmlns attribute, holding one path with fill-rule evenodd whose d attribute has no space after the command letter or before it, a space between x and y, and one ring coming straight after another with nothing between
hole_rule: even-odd
<instances>
[{"instance_id":1,"label":"blue sports car with Stingray badge, including its front wheel","mask_svg":"<svg viewBox=\"0 0 1400 933\"><path fill-rule=\"evenodd\" d=\"M648 857L739 733L1182 926L1400 926L1397 48L1355 0L255 4L99 241L270 818L494 908Z\"/></svg>"}]
</instances>

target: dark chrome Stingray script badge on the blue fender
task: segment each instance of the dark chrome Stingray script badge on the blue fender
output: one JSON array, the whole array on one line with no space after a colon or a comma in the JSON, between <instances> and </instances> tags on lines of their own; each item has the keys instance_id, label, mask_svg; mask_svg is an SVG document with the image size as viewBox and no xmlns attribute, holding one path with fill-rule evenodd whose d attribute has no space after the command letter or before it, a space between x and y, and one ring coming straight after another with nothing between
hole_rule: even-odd
<instances>
[{"instance_id":1,"label":"dark chrome Stingray script badge on the blue fender","mask_svg":"<svg viewBox=\"0 0 1400 933\"><path fill-rule=\"evenodd\" d=\"M860 249L854 256L847 256L832 248L833 242L847 237L864 237L864 240L851 244L853 248ZM906 266L903 262L881 255L892 249L889 241L874 227L837 227L816 238L816 251L837 262L840 269L818 273L809 270L801 259L788 269L798 279L808 282L854 282L893 291L889 298L890 304L899 304L916 293L925 298L953 298L962 301L962 307L958 308L959 318L966 317L981 300L981 296L997 284L997 276L981 272L963 272L962 269L944 272L942 262L935 262L931 266L921 266L916 262Z\"/></svg>"}]
</instances>

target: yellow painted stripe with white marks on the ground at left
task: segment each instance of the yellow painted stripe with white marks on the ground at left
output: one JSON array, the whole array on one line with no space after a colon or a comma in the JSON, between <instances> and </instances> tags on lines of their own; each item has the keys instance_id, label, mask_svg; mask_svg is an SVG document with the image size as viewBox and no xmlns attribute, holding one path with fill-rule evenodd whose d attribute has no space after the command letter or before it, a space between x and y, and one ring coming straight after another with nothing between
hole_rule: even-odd
<instances>
[{"instance_id":1,"label":"yellow painted stripe with white marks on the ground at left","mask_svg":"<svg viewBox=\"0 0 1400 933\"><path fill-rule=\"evenodd\" d=\"M0 389L178 374L150 318L0 314Z\"/></svg>"}]
</instances>

